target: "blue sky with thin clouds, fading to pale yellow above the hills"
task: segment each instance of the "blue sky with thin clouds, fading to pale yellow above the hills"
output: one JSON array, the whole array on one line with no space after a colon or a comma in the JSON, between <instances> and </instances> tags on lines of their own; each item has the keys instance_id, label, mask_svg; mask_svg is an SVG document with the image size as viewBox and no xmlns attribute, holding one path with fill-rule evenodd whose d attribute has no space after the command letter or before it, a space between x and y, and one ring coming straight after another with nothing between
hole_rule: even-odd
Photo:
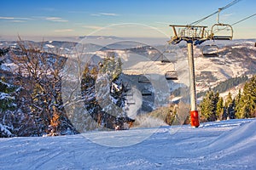
<instances>
[{"instance_id":1,"label":"blue sky with thin clouds, fading to pale yellow above the hills","mask_svg":"<svg viewBox=\"0 0 256 170\"><path fill-rule=\"evenodd\" d=\"M170 24L188 25L232 1L2 0L0 39L88 35L171 37ZM255 13L255 0L241 0L220 13L220 22L233 24ZM199 25L211 28L217 22L216 18L217 15L213 15ZM237 24L233 29L234 38L256 38L256 16Z\"/></svg>"}]
</instances>

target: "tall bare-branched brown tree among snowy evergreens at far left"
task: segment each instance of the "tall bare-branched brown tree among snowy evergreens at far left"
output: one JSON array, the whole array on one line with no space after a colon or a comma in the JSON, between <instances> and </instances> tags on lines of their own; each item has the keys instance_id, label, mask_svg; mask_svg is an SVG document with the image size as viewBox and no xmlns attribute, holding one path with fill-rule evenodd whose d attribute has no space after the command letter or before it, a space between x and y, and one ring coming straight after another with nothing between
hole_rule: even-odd
<instances>
[{"instance_id":1,"label":"tall bare-branched brown tree among snowy evergreens at far left","mask_svg":"<svg viewBox=\"0 0 256 170\"><path fill-rule=\"evenodd\" d=\"M44 52L43 44L37 47L20 39L20 53L12 54L17 65L15 83L24 89L24 105L31 112L38 135L71 127L61 100L61 69L66 58Z\"/></svg>"}]
</instances>

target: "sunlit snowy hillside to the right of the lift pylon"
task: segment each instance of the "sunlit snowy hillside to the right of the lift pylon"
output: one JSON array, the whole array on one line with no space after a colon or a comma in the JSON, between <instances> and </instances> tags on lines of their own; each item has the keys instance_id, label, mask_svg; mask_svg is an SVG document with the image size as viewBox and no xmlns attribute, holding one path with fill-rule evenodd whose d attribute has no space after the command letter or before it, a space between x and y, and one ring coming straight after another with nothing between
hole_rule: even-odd
<instances>
[{"instance_id":1,"label":"sunlit snowy hillside to the right of the lift pylon","mask_svg":"<svg viewBox=\"0 0 256 170\"><path fill-rule=\"evenodd\" d=\"M218 42L219 43L219 42ZM256 49L253 41L230 42L218 44L216 57L203 57L202 48L206 45L195 47L195 77L197 93L214 88L219 82L224 82L232 77L255 74Z\"/></svg>"}]
</instances>

